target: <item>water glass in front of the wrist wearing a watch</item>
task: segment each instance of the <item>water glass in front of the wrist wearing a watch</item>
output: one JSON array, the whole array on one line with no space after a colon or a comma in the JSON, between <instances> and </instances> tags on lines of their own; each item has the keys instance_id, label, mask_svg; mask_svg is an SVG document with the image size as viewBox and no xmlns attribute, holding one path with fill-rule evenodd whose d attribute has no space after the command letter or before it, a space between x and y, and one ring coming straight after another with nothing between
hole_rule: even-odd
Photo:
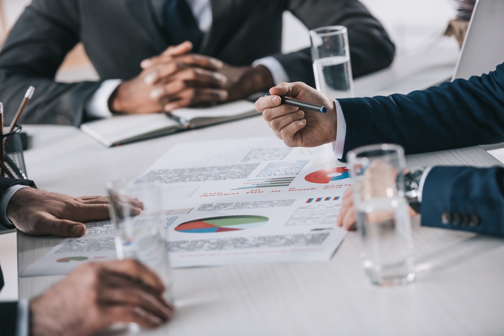
<instances>
[{"instance_id":1,"label":"water glass in front of the wrist wearing a watch","mask_svg":"<svg viewBox=\"0 0 504 336\"><path fill-rule=\"evenodd\" d=\"M404 149L378 144L348 153L364 268L373 284L412 282L413 242L404 197Z\"/></svg>"}]
</instances>

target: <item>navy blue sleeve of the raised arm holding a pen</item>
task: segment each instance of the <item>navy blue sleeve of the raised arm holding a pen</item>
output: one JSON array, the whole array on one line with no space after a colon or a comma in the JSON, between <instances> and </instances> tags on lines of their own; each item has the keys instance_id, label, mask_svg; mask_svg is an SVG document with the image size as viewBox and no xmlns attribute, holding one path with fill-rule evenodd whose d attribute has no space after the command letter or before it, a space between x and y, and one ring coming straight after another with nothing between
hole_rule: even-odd
<instances>
[{"instance_id":1,"label":"navy blue sleeve of the raised arm holding a pen","mask_svg":"<svg viewBox=\"0 0 504 336\"><path fill-rule=\"evenodd\" d=\"M344 159L353 148L382 142L421 153L504 141L504 64L425 91L338 101L347 123Z\"/></svg>"}]
</instances>

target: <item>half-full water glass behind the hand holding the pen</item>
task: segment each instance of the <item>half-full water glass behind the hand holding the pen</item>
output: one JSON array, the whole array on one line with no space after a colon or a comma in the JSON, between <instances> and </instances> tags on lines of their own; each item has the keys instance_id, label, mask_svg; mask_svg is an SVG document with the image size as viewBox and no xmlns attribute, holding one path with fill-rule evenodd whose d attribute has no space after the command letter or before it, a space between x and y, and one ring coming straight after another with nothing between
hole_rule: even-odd
<instances>
[{"instance_id":1,"label":"half-full water glass behind the hand holding the pen","mask_svg":"<svg viewBox=\"0 0 504 336\"><path fill-rule=\"evenodd\" d=\"M310 39L317 90L331 99L352 98L354 84L347 27L313 29Z\"/></svg>"}]
</instances>

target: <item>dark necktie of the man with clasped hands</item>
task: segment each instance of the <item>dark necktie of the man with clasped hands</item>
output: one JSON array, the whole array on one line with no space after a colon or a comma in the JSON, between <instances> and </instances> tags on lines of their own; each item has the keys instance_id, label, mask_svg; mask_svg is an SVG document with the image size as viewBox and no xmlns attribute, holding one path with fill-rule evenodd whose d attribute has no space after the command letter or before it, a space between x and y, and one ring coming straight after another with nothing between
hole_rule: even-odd
<instances>
[{"instance_id":1,"label":"dark necktie of the man with clasped hands","mask_svg":"<svg viewBox=\"0 0 504 336\"><path fill-rule=\"evenodd\" d=\"M193 43L193 51L197 51L203 39L193 12L186 0L167 0L164 5L165 26L174 44L184 41Z\"/></svg>"}]
</instances>

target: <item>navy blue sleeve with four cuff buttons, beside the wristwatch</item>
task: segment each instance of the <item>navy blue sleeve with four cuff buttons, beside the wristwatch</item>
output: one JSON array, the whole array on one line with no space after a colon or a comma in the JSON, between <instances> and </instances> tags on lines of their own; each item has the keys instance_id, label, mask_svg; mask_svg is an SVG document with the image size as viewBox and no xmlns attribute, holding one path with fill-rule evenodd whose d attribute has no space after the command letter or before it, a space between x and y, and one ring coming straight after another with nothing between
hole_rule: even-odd
<instances>
[{"instance_id":1,"label":"navy blue sleeve with four cuff buttons, beside the wristwatch","mask_svg":"<svg viewBox=\"0 0 504 336\"><path fill-rule=\"evenodd\" d=\"M504 168L432 168L421 212L424 226L504 236Z\"/></svg>"}]
</instances>

